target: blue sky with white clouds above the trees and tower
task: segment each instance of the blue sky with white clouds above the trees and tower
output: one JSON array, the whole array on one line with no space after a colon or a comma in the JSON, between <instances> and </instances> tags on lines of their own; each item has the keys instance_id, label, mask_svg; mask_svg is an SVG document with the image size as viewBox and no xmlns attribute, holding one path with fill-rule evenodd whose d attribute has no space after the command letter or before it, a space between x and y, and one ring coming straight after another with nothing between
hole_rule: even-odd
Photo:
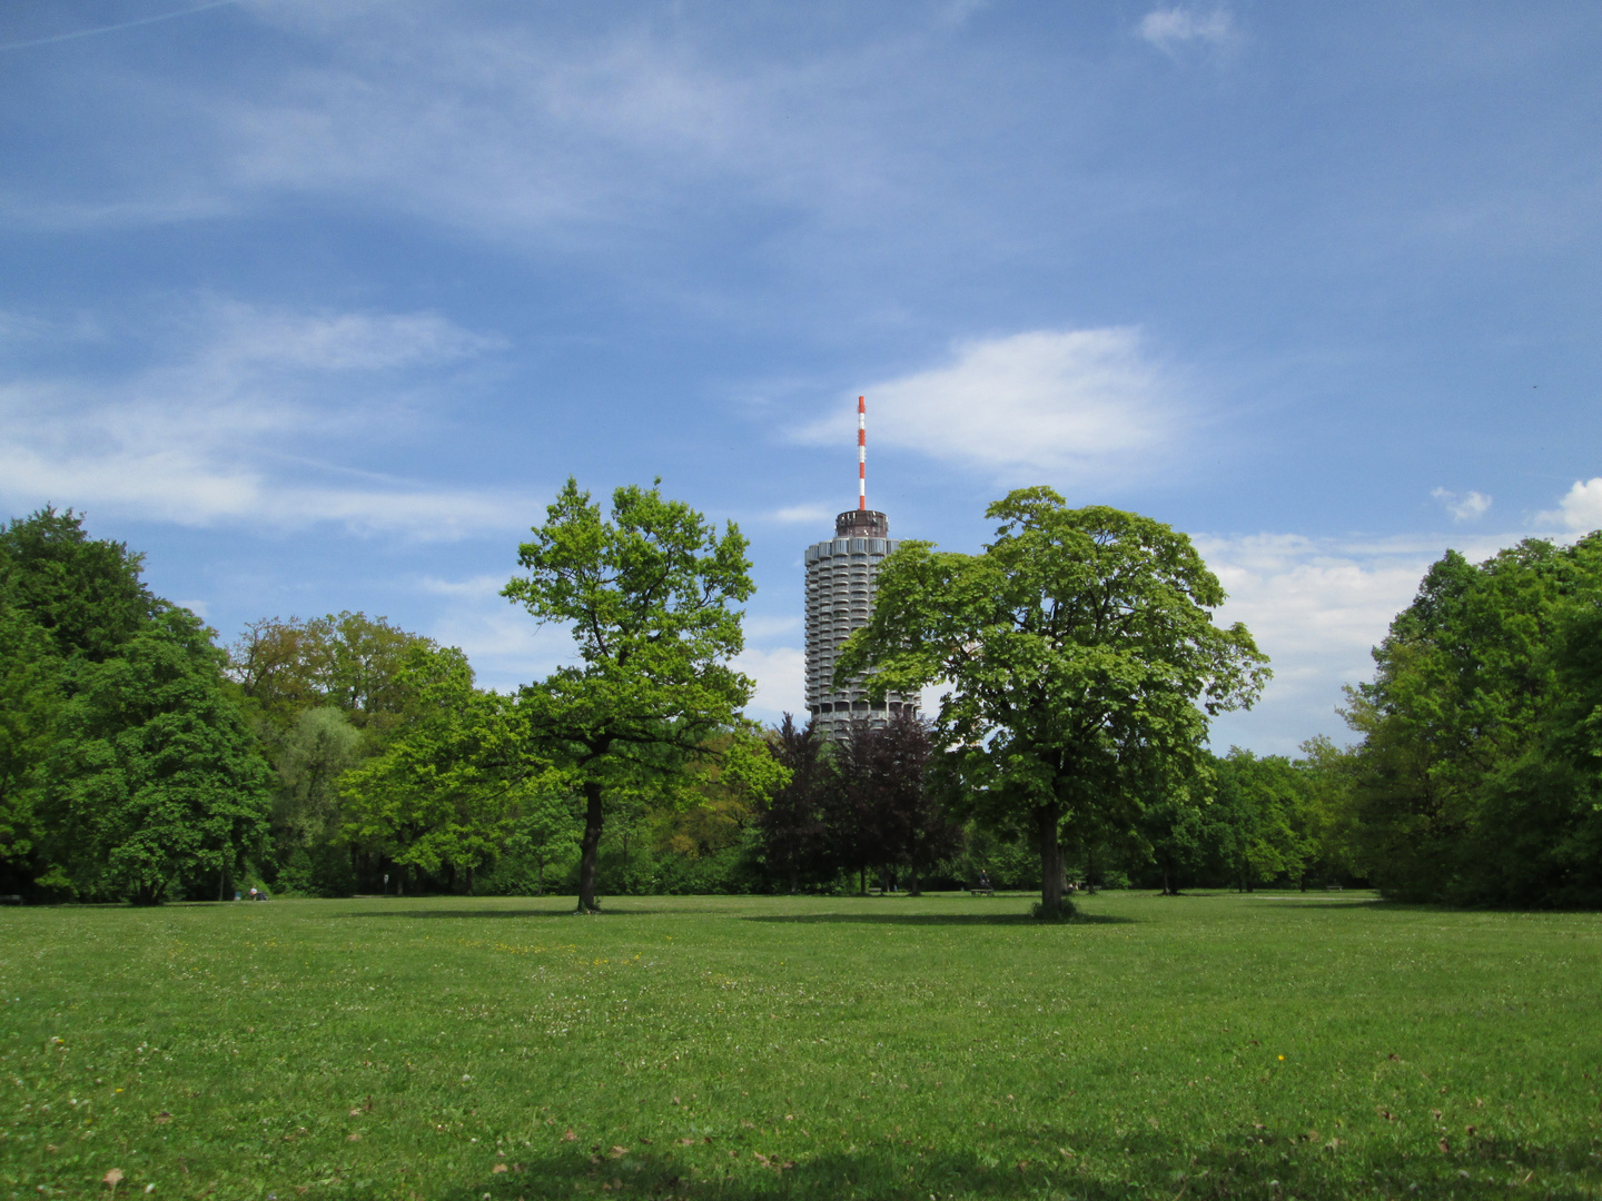
<instances>
[{"instance_id":1,"label":"blue sky with white clouds above the trees and tower","mask_svg":"<svg viewBox=\"0 0 1602 1201\"><path fill-rule=\"evenodd\" d=\"M1589 3L64 0L0 10L0 500L224 636L364 609L497 687L574 474L751 540L753 716L855 492L1189 532L1344 738L1443 548L1602 525Z\"/></svg>"}]
</instances>

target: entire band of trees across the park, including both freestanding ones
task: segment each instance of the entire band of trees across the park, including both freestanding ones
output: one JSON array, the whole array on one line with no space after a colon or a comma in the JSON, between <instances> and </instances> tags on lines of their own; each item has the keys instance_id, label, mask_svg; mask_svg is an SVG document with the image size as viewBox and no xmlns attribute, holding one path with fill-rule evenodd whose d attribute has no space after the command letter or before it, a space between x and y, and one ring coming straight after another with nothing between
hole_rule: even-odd
<instances>
[{"instance_id":1,"label":"entire band of trees across the park, including both freestanding ones","mask_svg":"<svg viewBox=\"0 0 1602 1201\"><path fill-rule=\"evenodd\" d=\"M227 647L72 509L0 530L0 892L865 892L871 881L1254 889L1602 906L1602 535L1448 551L1349 685L1352 746L1208 748L1269 679L1189 536L1046 487L977 554L904 541L836 681L940 682L932 717L745 716L747 541L575 480L503 596L577 661L514 693L384 618Z\"/></svg>"}]
</instances>

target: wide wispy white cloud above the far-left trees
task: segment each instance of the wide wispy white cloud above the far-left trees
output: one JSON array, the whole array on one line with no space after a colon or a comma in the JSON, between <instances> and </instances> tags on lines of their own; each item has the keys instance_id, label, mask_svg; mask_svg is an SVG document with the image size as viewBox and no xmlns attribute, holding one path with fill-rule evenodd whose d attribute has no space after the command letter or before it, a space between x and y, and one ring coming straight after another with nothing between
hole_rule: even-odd
<instances>
[{"instance_id":1,"label":"wide wispy white cloud above the far-left trees","mask_svg":"<svg viewBox=\"0 0 1602 1201\"><path fill-rule=\"evenodd\" d=\"M197 527L508 528L527 500L325 461L426 426L415 372L495 344L434 314L207 304L181 351L122 380L0 383L0 496Z\"/></svg>"}]
</instances>

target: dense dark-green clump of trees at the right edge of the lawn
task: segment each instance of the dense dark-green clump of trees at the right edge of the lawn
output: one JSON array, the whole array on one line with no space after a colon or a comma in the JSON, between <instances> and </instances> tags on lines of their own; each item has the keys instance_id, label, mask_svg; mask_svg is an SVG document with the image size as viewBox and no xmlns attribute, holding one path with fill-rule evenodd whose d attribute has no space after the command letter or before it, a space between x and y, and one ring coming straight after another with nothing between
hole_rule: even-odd
<instances>
[{"instance_id":1,"label":"dense dark-green clump of trees at the right edge of the lawn","mask_svg":"<svg viewBox=\"0 0 1602 1201\"><path fill-rule=\"evenodd\" d=\"M1411 900L1602 898L1588 626L1602 536L1530 540L1480 565L1448 552L1349 690L1354 855ZM1596 903L1596 902L1589 902Z\"/></svg>"}]
</instances>

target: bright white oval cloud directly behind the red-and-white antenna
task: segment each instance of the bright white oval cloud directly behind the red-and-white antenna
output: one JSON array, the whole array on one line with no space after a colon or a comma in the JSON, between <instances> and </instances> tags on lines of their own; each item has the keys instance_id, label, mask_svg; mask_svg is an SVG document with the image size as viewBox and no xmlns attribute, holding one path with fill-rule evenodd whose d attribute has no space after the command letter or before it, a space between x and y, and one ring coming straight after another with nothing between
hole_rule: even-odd
<instances>
[{"instance_id":1,"label":"bright white oval cloud directly behind the red-and-white antenna","mask_svg":"<svg viewBox=\"0 0 1602 1201\"><path fill-rule=\"evenodd\" d=\"M1137 330L1038 330L963 343L950 364L873 384L868 442L1000 477L1149 472L1190 420ZM851 415L798 432L836 442Z\"/></svg>"}]
</instances>

